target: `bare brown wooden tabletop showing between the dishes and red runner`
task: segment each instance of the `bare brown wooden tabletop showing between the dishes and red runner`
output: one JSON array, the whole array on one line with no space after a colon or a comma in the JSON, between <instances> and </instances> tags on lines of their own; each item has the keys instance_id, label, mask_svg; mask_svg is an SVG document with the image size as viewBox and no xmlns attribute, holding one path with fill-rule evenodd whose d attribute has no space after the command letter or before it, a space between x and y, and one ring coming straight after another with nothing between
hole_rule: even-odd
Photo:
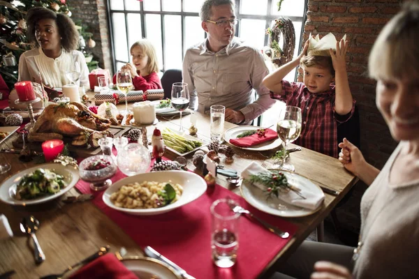
<instances>
[{"instance_id":1,"label":"bare brown wooden tabletop showing between the dishes and red runner","mask_svg":"<svg viewBox=\"0 0 419 279\"><path fill-rule=\"evenodd\" d=\"M210 116L198 112L184 115L182 123L186 128L186 133L191 126L191 117L193 117L193 122L198 129L198 138L209 140ZM179 129L178 116L158 116L158 119L157 124L147 126L149 137L152 136L156 127ZM225 122L224 130L236 126L234 123ZM8 137L6 141L1 143L0 149L13 149L13 141L17 137L20 137L17 133ZM289 148L293 147L296 146L289 144ZM275 151L249 151L237 147L233 147L233 149L235 151L233 162L225 165L228 169L237 170L239 174L251 162L260 163L260 165L264 162L272 163L268 158ZM277 149L280 149L280 146ZM0 175L0 181L4 181L9 176L24 169L36 166L34 160L22 162L18 155L17 153L0 153L0 160L7 161L12 166L9 172ZM164 157L170 160L175 160L177 156L168 149L164 153ZM191 171L195 169L192 156L193 153L185 156L187 159L186 167ZM337 158L325 156L304 147L302 147L302 151L291 153L289 160L295 166L295 173L306 177L319 187L335 190L337 195L325 193L323 206L309 216L285 218L289 223L295 225L295 234L284 248L270 259L265 268L258 274L258 278L269 278L281 266L281 263L286 261L300 246L302 241L307 239L307 236L322 224L323 220L348 194L348 191L358 180L344 169ZM218 175L215 179L219 186L237 195L242 195L240 188L228 183L225 176ZM8 185L2 185L1 187L8 187ZM91 255L104 245L109 245L114 252L125 248L128 255L138 255L140 257L144 255L143 248L93 203L86 201L66 204L63 202L66 197L77 197L79 195L78 189L72 188L58 199L33 206L12 206L0 202L0 213L8 218L14 234L13 237L0 239L0 274L14 270L15 274L12 278L39 278L46 274L57 273L65 269L66 266ZM41 223L36 236L47 257L42 264L34 262L28 237L20 232L20 220L28 215L35 216ZM208 215L210 215L210 212L208 212ZM252 251L246 252L251 253ZM182 250L179 250L179 253L182 253ZM208 257L211 257L211 255L208 255Z\"/></svg>"}]
</instances>

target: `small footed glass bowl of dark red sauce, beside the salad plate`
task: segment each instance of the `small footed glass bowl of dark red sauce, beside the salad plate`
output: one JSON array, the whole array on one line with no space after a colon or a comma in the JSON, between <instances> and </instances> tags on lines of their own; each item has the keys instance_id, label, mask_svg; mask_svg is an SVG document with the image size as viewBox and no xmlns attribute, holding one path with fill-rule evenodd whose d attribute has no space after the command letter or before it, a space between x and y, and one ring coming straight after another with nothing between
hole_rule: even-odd
<instances>
[{"instance_id":1,"label":"small footed glass bowl of dark red sauce, beside the salad plate","mask_svg":"<svg viewBox=\"0 0 419 279\"><path fill-rule=\"evenodd\" d=\"M85 158L79 165L80 179L90 182L90 188L100 191L112 185L110 178L117 172L111 156L96 155Z\"/></svg>"}]
</instances>

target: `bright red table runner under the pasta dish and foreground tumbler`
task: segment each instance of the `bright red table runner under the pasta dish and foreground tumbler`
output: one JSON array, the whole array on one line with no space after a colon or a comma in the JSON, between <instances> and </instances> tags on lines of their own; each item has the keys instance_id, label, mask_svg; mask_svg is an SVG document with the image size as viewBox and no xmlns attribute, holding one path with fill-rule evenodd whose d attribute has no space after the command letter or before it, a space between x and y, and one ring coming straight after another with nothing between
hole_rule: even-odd
<instances>
[{"instance_id":1,"label":"bright red table runner under the pasta dish and foreground tumbler","mask_svg":"<svg viewBox=\"0 0 419 279\"><path fill-rule=\"evenodd\" d=\"M112 182L124 177L125 175L118 170L112 177ZM295 225L280 217L254 209L242 197L219 185L208 188L204 195L189 204L155 216L133 216L111 209L102 200L103 192L93 193L89 183L82 180L78 181L75 187L84 194L94 194L92 202L139 246L152 246L196 278L256 278L293 237L297 229ZM215 266L212 262L210 206L216 199L227 196L263 220L289 232L291 236L281 239L258 223L242 216L236 264L230 269Z\"/></svg>"}]
</instances>

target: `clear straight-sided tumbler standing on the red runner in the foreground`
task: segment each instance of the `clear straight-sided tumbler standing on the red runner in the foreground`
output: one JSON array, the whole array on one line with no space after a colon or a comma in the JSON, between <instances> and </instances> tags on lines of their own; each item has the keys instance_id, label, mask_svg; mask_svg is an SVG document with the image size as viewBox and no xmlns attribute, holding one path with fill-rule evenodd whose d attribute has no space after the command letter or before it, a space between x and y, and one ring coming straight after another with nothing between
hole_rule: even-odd
<instances>
[{"instance_id":1,"label":"clear straight-sided tumbler standing on the red runner in the foreground","mask_svg":"<svg viewBox=\"0 0 419 279\"><path fill-rule=\"evenodd\" d=\"M233 211L234 206L233 199L217 199L210 208L212 259L219 267L233 266L237 259L240 213Z\"/></svg>"}]
</instances>

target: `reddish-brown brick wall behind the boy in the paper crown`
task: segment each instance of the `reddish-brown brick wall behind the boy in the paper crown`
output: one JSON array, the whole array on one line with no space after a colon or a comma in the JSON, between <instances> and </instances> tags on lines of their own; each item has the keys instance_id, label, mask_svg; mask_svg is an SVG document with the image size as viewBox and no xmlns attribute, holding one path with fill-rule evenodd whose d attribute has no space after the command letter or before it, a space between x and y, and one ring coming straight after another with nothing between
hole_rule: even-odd
<instances>
[{"instance_id":1,"label":"reddish-brown brick wall behind the boy in the paper crown","mask_svg":"<svg viewBox=\"0 0 419 279\"><path fill-rule=\"evenodd\" d=\"M351 92L360 111L361 150L369 163L383 167L397 143L392 140L375 103L374 80L367 76L368 54L383 25L397 13L403 0L308 0L304 41L332 32L349 40L347 69ZM360 199L367 186L357 183L348 202L337 209L341 225L358 231Z\"/></svg>"}]
</instances>

